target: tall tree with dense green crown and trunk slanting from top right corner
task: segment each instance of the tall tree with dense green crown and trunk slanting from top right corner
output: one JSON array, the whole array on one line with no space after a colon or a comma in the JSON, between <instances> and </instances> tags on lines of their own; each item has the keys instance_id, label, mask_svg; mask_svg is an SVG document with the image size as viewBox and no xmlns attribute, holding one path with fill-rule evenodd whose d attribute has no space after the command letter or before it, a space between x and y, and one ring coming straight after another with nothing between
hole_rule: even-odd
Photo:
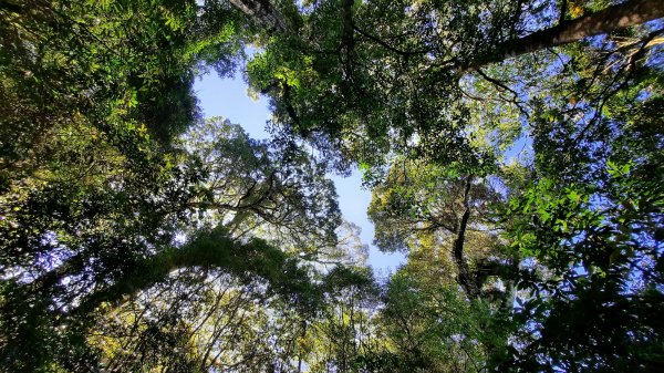
<instances>
[{"instance_id":1,"label":"tall tree with dense green crown and trunk slanting from top right corner","mask_svg":"<svg viewBox=\"0 0 664 373\"><path fill-rule=\"evenodd\" d=\"M479 80L498 83L515 101L519 92L479 68L512 54L544 53L562 43L560 32L596 25L598 19L608 21L566 37L564 42L662 15L654 1L630 1L575 21L560 18L559 25L553 15L566 14L567 9L557 3L318 1L304 6L302 14L291 20L292 31L273 34L266 52L249 64L249 82L271 94L277 123L284 131L309 138L325 155L338 149L346 158L378 166L386 164L383 156L390 151L444 163L473 164L487 157L484 160L490 162L491 155L471 146L461 129L468 127L469 108L459 81L470 71L477 70L473 76ZM633 23L621 23L624 18ZM550 43L539 42L544 38L538 30L551 34ZM647 38L653 35L644 34Z\"/></svg>"}]
</instances>

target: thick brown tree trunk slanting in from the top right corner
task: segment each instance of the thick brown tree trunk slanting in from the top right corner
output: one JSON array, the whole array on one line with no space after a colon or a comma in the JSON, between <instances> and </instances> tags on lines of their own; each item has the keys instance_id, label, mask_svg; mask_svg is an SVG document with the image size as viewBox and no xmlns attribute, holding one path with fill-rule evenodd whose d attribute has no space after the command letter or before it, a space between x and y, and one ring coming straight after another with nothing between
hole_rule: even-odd
<instances>
[{"instance_id":1,"label":"thick brown tree trunk slanting in from the top right corner","mask_svg":"<svg viewBox=\"0 0 664 373\"><path fill-rule=\"evenodd\" d=\"M664 17L664 0L632 0L609 7L595 13L563 22L553 28L510 40L498 48L498 52L486 59L471 61L464 70L500 62L526 54L579 41L583 38L606 33L616 29L641 24Z\"/></svg>"}]
</instances>

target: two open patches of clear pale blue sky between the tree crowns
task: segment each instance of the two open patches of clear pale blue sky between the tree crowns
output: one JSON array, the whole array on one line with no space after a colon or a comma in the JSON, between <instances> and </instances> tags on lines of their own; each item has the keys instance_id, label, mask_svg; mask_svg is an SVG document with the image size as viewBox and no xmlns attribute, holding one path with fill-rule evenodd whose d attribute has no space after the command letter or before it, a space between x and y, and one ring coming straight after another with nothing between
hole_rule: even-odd
<instances>
[{"instance_id":1,"label":"two open patches of clear pale blue sky between the tree crowns","mask_svg":"<svg viewBox=\"0 0 664 373\"><path fill-rule=\"evenodd\" d=\"M264 97L258 101L247 95L247 85L241 77L220 79L217 74L206 74L196 80L194 90L199 106L206 117L224 116L231 123L241 125L253 138L267 138L266 122L270 118L268 102ZM378 277L394 272L405 261L402 253L383 253L373 241L374 229L366 216L371 201L371 193L362 188L362 179L355 170L350 177L330 175L336 186L339 206L344 218L362 228L362 242L370 245L369 265Z\"/></svg>"}]
</instances>

